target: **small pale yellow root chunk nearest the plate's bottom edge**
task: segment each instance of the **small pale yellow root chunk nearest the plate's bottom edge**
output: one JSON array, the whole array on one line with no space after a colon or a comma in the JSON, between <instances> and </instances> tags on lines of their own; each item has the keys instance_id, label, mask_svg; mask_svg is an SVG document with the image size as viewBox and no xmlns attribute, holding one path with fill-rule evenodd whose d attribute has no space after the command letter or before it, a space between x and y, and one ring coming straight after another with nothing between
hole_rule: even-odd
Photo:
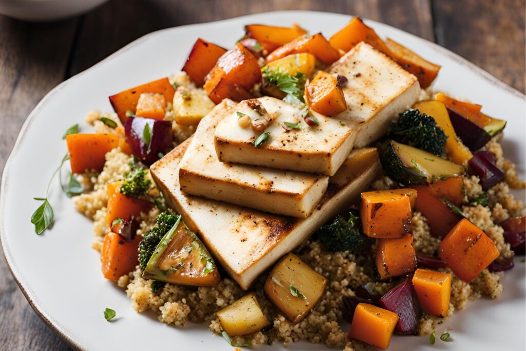
<instances>
[{"instance_id":1,"label":"small pale yellow root chunk nearest the plate's bottom edge","mask_svg":"<svg viewBox=\"0 0 526 351\"><path fill-rule=\"evenodd\" d=\"M221 326L230 336L245 335L270 325L267 317L261 312L255 293L250 293L236 300L217 312Z\"/></svg>"}]
</instances>

